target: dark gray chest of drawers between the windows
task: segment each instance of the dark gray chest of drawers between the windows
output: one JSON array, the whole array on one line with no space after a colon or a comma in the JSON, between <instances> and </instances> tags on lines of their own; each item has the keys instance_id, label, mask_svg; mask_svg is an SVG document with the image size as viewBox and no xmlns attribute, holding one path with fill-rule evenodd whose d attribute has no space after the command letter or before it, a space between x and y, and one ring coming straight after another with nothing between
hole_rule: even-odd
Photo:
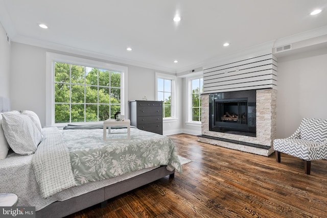
<instances>
[{"instance_id":1,"label":"dark gray chest of drawers between the windows","mask_svg":"<svg viewBox=\"0 0 327 218\"><path fill-rule=\"evenodd\" d=\"M162 135L162 102L129 101L131 126Z\"/></svg>"}]
</instances>

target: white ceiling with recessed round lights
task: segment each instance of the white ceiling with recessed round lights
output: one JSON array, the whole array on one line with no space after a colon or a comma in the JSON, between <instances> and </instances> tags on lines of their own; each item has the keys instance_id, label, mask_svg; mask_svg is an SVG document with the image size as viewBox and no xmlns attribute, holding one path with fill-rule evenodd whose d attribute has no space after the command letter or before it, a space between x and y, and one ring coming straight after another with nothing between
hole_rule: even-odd
<instances>
[{"instance_id":1,"label":"white ceiling with recessed round lights","mask_svg":"<svg viewBox=\"0 0 327 218\"><path fill-rule=\"evenodd\" d=\"M311 16L316 8L322 12ZM175 14L182 17L178 24ZM0 0L0 21L12 41L180 72L327 26L327 1ZM223 47L224 42L230 46ZM126 51L129 46L131 52Z\"/></svg>"}]
</instances>

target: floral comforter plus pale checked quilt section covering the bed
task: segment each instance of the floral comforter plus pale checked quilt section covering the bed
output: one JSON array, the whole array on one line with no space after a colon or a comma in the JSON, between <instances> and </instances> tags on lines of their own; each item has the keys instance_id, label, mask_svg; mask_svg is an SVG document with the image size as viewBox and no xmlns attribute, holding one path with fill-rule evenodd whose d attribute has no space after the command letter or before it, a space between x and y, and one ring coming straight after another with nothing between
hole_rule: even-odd
<instances>
[{"instance_id":1,"label":"floral comforter plus pale checked quilt section covering the bed","mask_svg":"<svg viewBox=\"0 0 327 218\"><path fill-rule=\"evenodd\" d=\"M51 127L43 128L42 134L32 165L43 198L69 187L153 166L167 165L170 171L182 172L172 140L155 133L131 128L130 140L112 141L103 140L103 129L59 131ZM109 137L119 139L126 134Z\"/></svg>"}]
</instances>

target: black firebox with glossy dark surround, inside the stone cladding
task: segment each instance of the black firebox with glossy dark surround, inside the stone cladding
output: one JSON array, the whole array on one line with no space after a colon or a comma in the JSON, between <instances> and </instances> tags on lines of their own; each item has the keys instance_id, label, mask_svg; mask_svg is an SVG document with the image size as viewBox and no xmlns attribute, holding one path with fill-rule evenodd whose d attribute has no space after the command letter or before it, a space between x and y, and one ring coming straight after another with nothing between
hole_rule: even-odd
<instances>
[{"instance_id":1,"label":"black firebox with glossy dark surround, inside the stone cladding","mask_svg":"<svg viewBox=\"0 0 327 218\"><path fill-rule=\"evenodd\" d=\"M209 130L255 137L255 90L209 94Z\"/></svg>"}]
</instances>

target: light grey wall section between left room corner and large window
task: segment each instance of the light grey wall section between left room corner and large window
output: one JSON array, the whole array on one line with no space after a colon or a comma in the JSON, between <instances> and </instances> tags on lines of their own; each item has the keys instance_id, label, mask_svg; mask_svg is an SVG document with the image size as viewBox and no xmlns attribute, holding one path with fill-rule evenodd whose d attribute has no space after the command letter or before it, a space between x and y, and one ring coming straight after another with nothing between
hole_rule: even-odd
<instances>
[{"instance_id":1,"label":"light grey wall section between left room corner and large window","mask_svg":"<svg viewBox=\"0 0 327 218\"><path fill-rule=\"evenodd\" d=\"M10 100L13 110L32 110L45 125L45 49L11 43Z\"/></svg>"}]
</instances>

